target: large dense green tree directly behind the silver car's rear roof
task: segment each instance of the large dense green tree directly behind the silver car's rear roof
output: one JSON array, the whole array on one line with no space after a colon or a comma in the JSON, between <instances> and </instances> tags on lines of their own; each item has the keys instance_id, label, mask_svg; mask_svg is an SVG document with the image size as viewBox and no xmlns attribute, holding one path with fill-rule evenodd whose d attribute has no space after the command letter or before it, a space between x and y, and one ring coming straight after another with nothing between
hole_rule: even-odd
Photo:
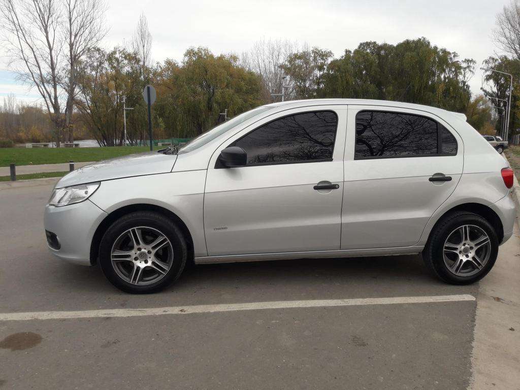
<instances>
[{"instance_id":1,"label":"large dense green tree directly behind the silver car's rear roof","mask_svg":"<svg viewBox=\"0 0 520 390\"><path fill-rule=\"evenodd\" d=\"M426 38L397 45L363 42L330 62L321 97L397 100L464 112L475 61Z\"/></svg>"}]
</instances>

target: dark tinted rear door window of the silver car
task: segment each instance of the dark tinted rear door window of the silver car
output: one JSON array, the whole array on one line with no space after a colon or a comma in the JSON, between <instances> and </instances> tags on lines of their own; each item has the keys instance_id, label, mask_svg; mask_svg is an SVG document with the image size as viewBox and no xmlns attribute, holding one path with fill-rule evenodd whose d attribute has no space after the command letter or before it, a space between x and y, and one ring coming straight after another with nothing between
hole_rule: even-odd
<instances>
[{"instance_id":1,"label":"dark tinted rear door window of the silver car","mask_svg":"<svg viewBox=\"0 0 520 390\"><path fill-rule=\"evenodd\" d=\"M433 119L383 111L356 115L355 159L456 154L457 140Z\"/></svg>"}]
</instances>

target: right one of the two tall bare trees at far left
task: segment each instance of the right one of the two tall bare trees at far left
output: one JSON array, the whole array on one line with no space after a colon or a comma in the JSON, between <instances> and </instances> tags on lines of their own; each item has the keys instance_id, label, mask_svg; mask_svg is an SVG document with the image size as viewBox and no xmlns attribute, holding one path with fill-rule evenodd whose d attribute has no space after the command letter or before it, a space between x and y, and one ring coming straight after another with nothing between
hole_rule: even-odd
<instances>
[{"instance_id":1,"label":"right one of the two tall bare trees at far left","mask_svg":"<svg viewBox=\"0 0 520 390\"><path fill-rule=\"evenodd\" d=\"M92 51L106 36L106 3L103 0L64 0L63 26L64 40L68 48L67 76L62 80L62 87L67 92L65 110L65 128L67 140L73 142L72 114L77 89L77 73L80 61Z\"/></svg>"}]
</instances>

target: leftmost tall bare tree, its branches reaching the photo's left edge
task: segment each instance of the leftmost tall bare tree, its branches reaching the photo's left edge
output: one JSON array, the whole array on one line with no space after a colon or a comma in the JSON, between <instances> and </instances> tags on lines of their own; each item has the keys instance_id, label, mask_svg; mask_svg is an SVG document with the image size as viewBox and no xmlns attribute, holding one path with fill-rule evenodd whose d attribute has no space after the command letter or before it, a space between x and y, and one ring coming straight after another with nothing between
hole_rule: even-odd
<instances>
[{"instance_id":1,"label":"leftmost tall bare tree, its branches reaching the photo's left edge","mask_svg":"<svg viewBox=\"0 0 520 390\"><path fill-rule=\"evenodd\" d=\"M58 72L62 60L61 10L56 0L0 0L9 64L38 90L58 137L63 128Z\"/></svg>"}]
</instances>

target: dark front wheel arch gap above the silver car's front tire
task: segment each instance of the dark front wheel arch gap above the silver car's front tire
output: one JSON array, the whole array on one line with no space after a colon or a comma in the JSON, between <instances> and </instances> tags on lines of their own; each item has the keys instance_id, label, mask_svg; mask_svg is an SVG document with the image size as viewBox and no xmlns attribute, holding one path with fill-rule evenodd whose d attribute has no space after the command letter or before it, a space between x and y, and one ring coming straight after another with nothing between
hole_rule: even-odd
<instances>
[{"instance_id":1,"label":"dark front wheel arch gap above the silver car's front tire","mask_svg":"<svg viewBox=\"0 0 520 390\"><path fill-rule=\"evenodd\" d=\"M177 214L175 214L171 210L165 209L162 206L149 203L136 203L125 205L120 207L119 209L113 210L110 214L108 214L105 217L105 219L101 221L101 223L96 228L96 231L94 232L94 236L92 238L92 242L90 243L90 264L94 265L97 263L97 259L99 256L99 244L101 243L101 239L103 238L103 235L105 234L109 226L112 225L117 219L119 219L123 215L135 211L154 211L166 215L168 218L171 218L183 232L188 248L188 262L193 262L193 238L184 221Z\"/></svg>"}]
</instances>

